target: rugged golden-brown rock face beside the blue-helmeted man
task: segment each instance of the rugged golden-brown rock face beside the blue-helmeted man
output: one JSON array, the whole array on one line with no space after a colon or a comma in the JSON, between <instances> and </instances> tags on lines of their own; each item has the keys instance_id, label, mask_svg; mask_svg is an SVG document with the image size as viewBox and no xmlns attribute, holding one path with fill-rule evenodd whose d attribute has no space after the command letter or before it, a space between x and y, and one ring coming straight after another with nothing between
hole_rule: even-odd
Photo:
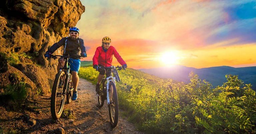
<instances>
[{"instance_id":1,"label":"rugged golden-brown rock face beside the blue-helmeted man","mask_svg":"<svg viewBox=\"0 0 256 134\"><path fill-rule=\"evenodd\" d=\"M14 67L27 81L33 82L33 87L36 85L47 93L56 74L57 61L45 59L43 54L68 36L69 28L76 25L84 11L79 0L1 0L0 53L32 55L31 59L20 57L21 63ZM60 53L61 48L55 52ZM3 73L10 73L9 66L1 67L0 79Z\"/></svg>"}]
</instances>

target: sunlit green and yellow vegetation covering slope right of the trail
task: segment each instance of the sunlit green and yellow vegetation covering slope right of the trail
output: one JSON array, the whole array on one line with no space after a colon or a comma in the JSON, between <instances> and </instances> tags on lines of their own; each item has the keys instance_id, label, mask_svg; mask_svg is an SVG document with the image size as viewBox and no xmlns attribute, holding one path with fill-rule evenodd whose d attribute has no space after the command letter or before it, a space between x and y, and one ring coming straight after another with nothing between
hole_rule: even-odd
<instances>
[{"instance_id":1,"label":"sunlit green and yellow vegetation covering slope right of the trail","mask_svg":"<svg viewBox=\"0 0 256 134\"><path fill-rule=\"evenodd\" d=\"M80 76L96 83L98 72L82 68ZM86 74L85 74L86 73ZM237 75L212 88L196 74L190 83L160 79L134 69L119 71L120 108L147 133L256 133L256 97Z\"/></svg>"}]
</instances>

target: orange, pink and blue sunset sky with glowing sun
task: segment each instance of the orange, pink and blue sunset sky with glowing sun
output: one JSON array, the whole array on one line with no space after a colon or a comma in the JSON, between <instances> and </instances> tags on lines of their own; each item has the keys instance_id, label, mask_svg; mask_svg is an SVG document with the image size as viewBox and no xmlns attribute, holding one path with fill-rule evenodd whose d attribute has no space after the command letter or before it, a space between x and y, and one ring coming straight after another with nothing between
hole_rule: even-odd
<instances>
[{"instance_id":1,"label":"orange, pink and blue sunset sky with glowing sun","mask_svg":"<svg viewBox=\"0 0 256 134\"><path fill-rule=\"evenodd\" d=\"M256 66L256 0L81 2L84 60L108 36L129 68Z\"/></svg>"}]
</instances>

